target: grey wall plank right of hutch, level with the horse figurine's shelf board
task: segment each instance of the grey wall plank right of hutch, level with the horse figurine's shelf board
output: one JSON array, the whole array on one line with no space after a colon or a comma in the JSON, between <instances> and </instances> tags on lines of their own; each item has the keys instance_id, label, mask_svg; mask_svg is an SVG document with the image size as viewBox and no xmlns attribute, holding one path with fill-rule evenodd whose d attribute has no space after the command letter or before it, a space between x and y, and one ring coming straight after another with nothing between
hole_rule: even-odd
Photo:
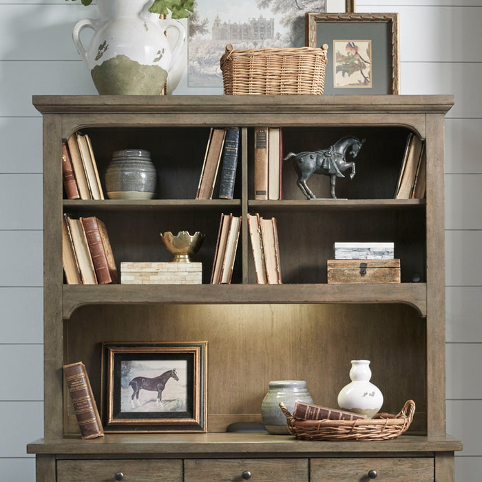
<instances>
[{"instance_id":1,"label":"grey wall plank right of hutch, level with the horse figurine's shelf board","mask_svg":"<svg viewBox=\"0 0 482 482\"><path fill-rule=\"evenodd\" d=\"M446 229L482 229L481 183L482 174L446 174Z\"/></svg>"}]
</instances>

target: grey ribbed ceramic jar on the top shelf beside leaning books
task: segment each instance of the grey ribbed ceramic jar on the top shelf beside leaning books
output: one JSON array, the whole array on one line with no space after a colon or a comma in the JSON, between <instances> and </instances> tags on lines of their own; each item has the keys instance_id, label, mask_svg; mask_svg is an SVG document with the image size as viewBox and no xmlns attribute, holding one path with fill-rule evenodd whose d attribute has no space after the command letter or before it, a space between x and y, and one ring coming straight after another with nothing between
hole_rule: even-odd
<instances>
[{"instance_id":1,"label":"grey ribbed ceramic jar on the top shelf beside leaning books","mask_svg":"<svg viewBox=\"0 0 482 482\"><path fill-rule=\"evenodd\" d=\"M105 170L105 190L109 199L152 199L156 180L151 154L144 149L115 151Z\"/></svg>"}]
</instances>

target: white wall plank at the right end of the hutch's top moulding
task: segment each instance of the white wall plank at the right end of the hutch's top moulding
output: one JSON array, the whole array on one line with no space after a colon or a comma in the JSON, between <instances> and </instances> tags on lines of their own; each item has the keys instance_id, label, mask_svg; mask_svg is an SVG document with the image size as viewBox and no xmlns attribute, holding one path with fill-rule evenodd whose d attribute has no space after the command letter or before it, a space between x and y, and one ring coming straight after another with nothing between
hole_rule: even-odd
<instances>
[{"instance_id":1,"label":"white wall plank at the right end of the hutch's top moulding","mask_svg":"<svg viewBox=\"0 0 482 482\"><path fill-rule=\"evenodd\" d=\"M477 79L481 63L404 62L401 64L401 94L454 94L448 118L482 118L482 96Z\"/></svg>"}]
</instances>

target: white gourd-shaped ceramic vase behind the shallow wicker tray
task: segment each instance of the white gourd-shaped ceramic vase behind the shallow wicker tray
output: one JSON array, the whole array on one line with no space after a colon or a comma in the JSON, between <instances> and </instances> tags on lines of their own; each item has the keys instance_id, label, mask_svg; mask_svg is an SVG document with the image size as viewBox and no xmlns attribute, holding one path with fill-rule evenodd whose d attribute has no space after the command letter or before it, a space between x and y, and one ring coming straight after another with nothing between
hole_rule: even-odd
<instances>
[{"instance_id":1,"label":"white gourd-shaped ceramic vase behind the shallow wicker tray","mask_svg":"<svg viewBox=\"0 0 482 482\"><path fill-rule=\"evenodd\" d=\"M343 410L373 417L384 404L384 396L377 386L370 382L372 371L369 360L352 360L351 382L338 394L338 405Z\"/></svg>"}]
</instances>

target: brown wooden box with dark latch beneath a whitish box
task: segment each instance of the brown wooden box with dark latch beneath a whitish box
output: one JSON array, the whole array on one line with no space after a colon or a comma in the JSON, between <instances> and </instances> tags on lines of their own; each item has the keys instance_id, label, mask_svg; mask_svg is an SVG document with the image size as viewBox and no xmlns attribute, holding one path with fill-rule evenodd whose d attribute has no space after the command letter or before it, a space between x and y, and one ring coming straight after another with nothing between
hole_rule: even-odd
<instances>
[{"instance_id":1,"label":"brown wooden box with dark latch beneath a whitish box","mask_svg":"<svg viewBox=\"0 0 482 482\"><path fill-rule=\"evenodd\" d=\"M327 260L328 283L399 283L400 260Z\"/></svg>"}]
</instances>

